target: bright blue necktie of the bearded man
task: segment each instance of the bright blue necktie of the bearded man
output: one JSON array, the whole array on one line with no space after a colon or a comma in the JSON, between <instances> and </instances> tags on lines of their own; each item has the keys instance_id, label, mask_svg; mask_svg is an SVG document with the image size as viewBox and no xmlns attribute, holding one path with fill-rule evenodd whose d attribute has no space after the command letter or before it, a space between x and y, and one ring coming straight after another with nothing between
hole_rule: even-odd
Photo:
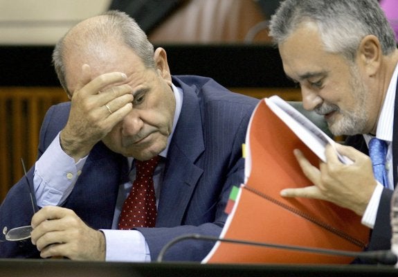
<instances>
[{"instance_id":1,"label":"bright blue necktie of the bearded man","mask_svg":"<svg viewBox=\"0 0 398 277\"><path fill-rule=\"evenodd\" d=\"M374 178L388 188L386 172L387 143L381 139L373 138L369 141L369 156L372 159Z\"/></svg>"}]
</instances>

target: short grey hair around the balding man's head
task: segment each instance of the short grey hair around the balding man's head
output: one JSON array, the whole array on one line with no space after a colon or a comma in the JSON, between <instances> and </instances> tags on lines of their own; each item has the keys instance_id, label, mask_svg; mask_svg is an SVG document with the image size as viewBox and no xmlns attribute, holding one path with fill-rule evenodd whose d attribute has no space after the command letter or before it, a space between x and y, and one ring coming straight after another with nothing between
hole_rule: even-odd
<instances>
[{"instance_id":1,"label":"short grey hair around the balding man's head","mask_svg":"<svg viewBox=\"0 0 398 277\"><path fill-rule=\"evenodd\" d=\"M147 68L155 68L154 46L148 41L147 35L145 35L144 31L132 17L129 17L125 12L109 10L103 15L100 15L98 19L100 20L96 22L99 24L92 24L85 34L86 37L84 37L84 39L88 44L96 47L95 44L101 39L106 42L109 37L120 38L127 46L133 49ZM71 30L73 30L73 28ZM53 51L55 72L57 73L62 87L69 95L70 92L66 87L64 55L67 48L65 45L65 38L71 30L57 42Z\"/></svg>"}]
</instances>

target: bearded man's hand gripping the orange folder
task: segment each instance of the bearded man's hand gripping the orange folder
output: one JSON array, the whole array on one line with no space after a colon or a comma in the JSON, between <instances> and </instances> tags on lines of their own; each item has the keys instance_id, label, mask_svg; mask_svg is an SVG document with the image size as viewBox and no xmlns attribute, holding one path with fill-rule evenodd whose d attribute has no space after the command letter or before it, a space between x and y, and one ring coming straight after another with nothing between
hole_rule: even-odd
<instances>
[{"instance_id":1,"label":"bearded man's hand gripping the orange folder","mask_svg":"<svg viewBox=\"0 0 398 277\"><path fill-rule=\"evenodd\" d=\"M335 148L353 163L342 163L336 156ZM321 161L319 168L316 168L300 150L294 150L293 153L302 172L313 186L285 188L280 192L282 197L323 199L363 215L377 185L372 175L372 163L367 155L349 146L327 145L327 161Z\"/></svg>"}]
</instances>

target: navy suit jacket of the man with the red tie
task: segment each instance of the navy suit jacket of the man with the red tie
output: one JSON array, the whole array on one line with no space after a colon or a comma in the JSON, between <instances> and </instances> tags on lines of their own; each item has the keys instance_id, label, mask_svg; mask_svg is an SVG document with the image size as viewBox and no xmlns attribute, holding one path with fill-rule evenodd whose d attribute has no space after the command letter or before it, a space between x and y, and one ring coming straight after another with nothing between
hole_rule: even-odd
<instances>
[{"instance_id":1,"label":"navy suit jacket of the man with the red tie","mask_svg":"<svg viewBox=\"0 0 398 277\"><path fill-rule=\"evenodd\" d=\"M179 235L218 236L226 221L224 208L231 186L244 178L242 143L258 100L231 93L210 78L174 76L183 90L181 115L174 131L159 198L156 228L138 229L145 236L151 258ZM40 132L38 157L66 124L70 102L51 107ZM66 202L93 229L111 229L118 186L127 180L127 159L97 143ZM33 172L28 172L30 186ZM26 179L13 186L0 206L0 228L30 224L33 215ZM2 234L1 234L2 236ZM201 260L212 243L187 240L165 260ZM30 240L0 242L1 258L39 258Z\"/></svg>"}]
</instances>

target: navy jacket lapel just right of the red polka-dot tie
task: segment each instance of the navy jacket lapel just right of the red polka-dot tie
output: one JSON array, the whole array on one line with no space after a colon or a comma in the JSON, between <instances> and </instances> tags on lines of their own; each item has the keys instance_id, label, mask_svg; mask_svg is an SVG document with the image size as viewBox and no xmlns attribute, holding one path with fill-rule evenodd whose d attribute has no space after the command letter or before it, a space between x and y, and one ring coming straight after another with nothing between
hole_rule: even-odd
<instances>
[{"instance_id":1,"label":"navy jacket lapel just right of the red polka-dot tie","mask_svg":"<svg viewBox=\"0 0 398 277\"><path fill-rule=\"evenodd\" d=\"M199 99L191 87L181 84L181 88L183 106L168 151L156 226L181 224L203 174L203 170L195 165L204 151Z\"/></svg>"}]
</instances>

